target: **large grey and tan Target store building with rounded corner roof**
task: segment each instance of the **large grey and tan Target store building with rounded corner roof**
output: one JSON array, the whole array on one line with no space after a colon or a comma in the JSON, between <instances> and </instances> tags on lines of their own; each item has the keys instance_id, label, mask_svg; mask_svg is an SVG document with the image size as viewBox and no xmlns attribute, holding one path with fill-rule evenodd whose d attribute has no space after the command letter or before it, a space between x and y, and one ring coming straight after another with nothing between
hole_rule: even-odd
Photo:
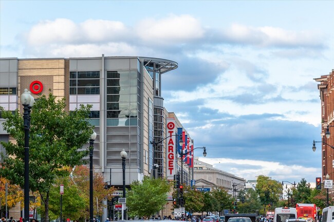
<instances>
[{"instance_id":1,"label":"large grey and tan Target store building with rounded corner roof","mask_svg":"<svg viewBox=\"0 0 334 222\"><path fill-rule=\"evenodd\" d=\"M122 190L122 149L127 153L127 187L144 175L152 175L154 164L159 166L159 177L180 171L178 160L173 163L174 171L166 168L169 140L157 144L155 152L151 143L168 137L167 120L174 121L175 134L177 128L182 128L174 113L164 108L161 95L162 74L176 68L177 63L171 60L104 57L103 54L96 58L2 58L0 106L6 110L22 110L20 95L25 88L34 98L47 95L50 89L53 95L66 99L67 111L80 104L92 104L90 121L98 134L94 143L94 168L103 174L108 186ZM0 140L8 141L11 138L3 130L2 121L0 117ZM191 141L189 135L188 138ZM2 146L0 152L5 154ZM183 171L183 181L189 182L186 164Z\"/></svg>"}]
</instances>

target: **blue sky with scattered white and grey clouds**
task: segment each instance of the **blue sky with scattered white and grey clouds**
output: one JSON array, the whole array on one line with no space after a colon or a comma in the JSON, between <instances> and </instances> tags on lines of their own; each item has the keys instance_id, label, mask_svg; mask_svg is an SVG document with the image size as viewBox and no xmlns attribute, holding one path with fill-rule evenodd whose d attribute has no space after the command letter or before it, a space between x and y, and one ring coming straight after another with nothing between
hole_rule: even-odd
<instances>
[{"instance_id":1,"label":"blue sky with scattered white and grey clouds","mask_svg":"<svg viewBox=\"0 0 334 222\"><path fill-rule=\"evenodd\" d=\"M162 75L199 160L245 179L314 187L321 102L334 69L334 1L0 0L1 58L139 56ZM288 183L288 182L285 182Z\"/></svg>"}]
</instances>

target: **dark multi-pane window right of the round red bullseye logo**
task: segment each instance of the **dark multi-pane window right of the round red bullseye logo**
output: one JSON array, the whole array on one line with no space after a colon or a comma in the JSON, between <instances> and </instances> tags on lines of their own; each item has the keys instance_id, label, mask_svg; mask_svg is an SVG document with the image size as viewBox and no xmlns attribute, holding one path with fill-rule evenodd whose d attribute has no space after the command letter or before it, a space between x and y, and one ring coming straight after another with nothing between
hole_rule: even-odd
<instances>
[{"instance_id":1,"label":"dark multi-pane window right of the round red bullseye logo","mask_svg":"<svg viewBox=\"0 0 334 222\"><path fill-rule=\"evenodd\" d=\"M100 94L100 71L70 71L69 94Z\"/></svg>"}]
</instances>

